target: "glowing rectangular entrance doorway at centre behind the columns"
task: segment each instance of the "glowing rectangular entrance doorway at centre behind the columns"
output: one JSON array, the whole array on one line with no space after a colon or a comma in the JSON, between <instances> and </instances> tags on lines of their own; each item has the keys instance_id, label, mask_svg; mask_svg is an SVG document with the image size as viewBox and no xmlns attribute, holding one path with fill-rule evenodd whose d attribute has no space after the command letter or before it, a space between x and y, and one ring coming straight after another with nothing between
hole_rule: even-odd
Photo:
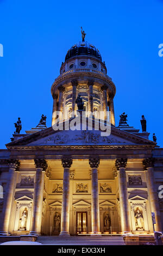
<instances>
[{"instance_id":1,"label":"glowing rectangular entrance doorway at centre behind the columns","mask_svg":"<svg viewBox=\"0 0 163 256\"><path fill-rule=\"evenodd\" d=\"M87 211L77 211L76 231L87 232Z\"/></svg>"}]
</instances>

